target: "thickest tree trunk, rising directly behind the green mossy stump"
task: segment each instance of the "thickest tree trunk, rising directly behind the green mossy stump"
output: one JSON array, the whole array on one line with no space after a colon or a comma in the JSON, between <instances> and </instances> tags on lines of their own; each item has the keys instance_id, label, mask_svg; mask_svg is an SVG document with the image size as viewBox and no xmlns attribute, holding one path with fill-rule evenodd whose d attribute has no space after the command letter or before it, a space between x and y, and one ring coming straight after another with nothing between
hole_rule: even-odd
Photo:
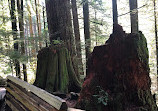
<instances>
[{"instance_id":1,"label":"thickest tree trunk, rising directly behind the green mossy stump","mask_svg":"<svg viewBox=\"0 0 158 111\"><path fill-rule=\"evenodd\" d=\"M69 0L49 0L46 1L46 12L48 21L48 30L50 43L53 40L62 40L66 42L68 49L71 51L72 40L72 23L70 14ZM52 13L54 12L54 13Z\"/></svg>"}]
</instances>

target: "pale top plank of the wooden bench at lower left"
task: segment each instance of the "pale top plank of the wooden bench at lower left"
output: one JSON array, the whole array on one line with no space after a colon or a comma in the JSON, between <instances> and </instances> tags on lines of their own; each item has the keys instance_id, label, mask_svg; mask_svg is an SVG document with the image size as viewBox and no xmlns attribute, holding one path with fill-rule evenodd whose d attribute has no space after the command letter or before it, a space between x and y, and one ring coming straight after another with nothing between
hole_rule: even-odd
<instances>
[{"instance_id":1,"label":"pale top plank of the wooden bench at lower left","mask_svg":"<svg viewBox=\"0 0 158 111\"><path fill-rule=\"evenodd\" d=\"M18 84L19 86L25 88L27 91L30 91L33 94L37 95L39 98L48 102L50 105L52 105L53 107L55 107L58 110L67 110L67 108L68 108L65 100L63 100L57 96L54 96L54 95L46 92L43 89L37 88L36 86L33 86L25 81L22 81L18 78L12 77L12 76L8 76L7 79L11 80L14 83Z\"/></svg>"}]
</instances>

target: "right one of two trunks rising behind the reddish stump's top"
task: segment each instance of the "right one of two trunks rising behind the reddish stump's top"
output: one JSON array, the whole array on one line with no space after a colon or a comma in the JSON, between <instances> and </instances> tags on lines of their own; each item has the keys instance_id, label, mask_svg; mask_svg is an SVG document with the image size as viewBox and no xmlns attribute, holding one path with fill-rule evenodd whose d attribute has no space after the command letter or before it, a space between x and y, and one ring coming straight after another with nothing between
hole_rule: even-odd
<instances>
[{"instance_id":1,"label":"right one of two trunks rising behind the reddish stump's top","mask_svg":"<svg viewBox=\"0 0 158 111\"><path fill-rule=\"evenodd\" d=\"M137 0L129 0L130 17L131 17L131 33L138 33L138 9Z\"/></svg>"}]
</instances>

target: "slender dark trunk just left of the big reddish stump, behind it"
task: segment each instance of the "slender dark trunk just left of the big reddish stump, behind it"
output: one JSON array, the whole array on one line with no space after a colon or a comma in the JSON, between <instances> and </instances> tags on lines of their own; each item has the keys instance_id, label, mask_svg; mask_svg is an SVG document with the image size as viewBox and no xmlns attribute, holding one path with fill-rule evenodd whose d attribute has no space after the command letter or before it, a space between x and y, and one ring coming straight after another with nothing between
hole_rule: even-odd
<instances>
[{"instance_id":1,"label":"slender dark trunk just left of the big reddish stump, behind it","mask_svg":"<svg viewBox=\"0 0 158 111\"><path fill-rule=\"evenodd\" d=\"M89 5L88 0L83 0L83 18L84 18L84 37L86 49L86 61L90 55L91 40L90 40L90 24L89 24Z\"/></svg>"}]
</instances>

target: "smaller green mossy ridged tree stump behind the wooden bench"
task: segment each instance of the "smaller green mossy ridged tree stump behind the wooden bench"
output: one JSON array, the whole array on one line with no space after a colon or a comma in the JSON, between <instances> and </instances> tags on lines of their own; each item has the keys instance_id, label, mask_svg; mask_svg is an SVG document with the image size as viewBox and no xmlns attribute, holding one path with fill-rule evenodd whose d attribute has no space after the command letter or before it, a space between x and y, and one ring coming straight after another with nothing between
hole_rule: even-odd
<instances>
[{"instance_id":1,"label":"smaller green mossy ridged tree stump behind the wooden bench","mask_svg":"<svg viewBox=\"0 0 158 111\"><path fill-rule=\"evenodd\" d=\"M46 91L79 92L81 85L74 72L71 56L63 45L52 45L38 52L34 85Z\"/></svg>"}]
</instances>

